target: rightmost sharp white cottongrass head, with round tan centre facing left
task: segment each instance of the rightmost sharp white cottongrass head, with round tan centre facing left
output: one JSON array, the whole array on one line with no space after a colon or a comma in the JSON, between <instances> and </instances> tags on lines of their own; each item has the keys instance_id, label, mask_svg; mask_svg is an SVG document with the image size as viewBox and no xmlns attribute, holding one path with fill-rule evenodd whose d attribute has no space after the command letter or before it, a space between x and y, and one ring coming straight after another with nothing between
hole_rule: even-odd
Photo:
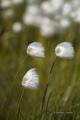
<instances>
[{"instance_id":1,"label":"rightmost sharp white cottongrass head, with round tan centre facing left","mask_svg":"<svg viewBox=\"0 0 80 120\"><path fill-rule=\"evenodd\" d=\"M74 58L74 48L71 43L62 42L56 46L55 54L60 58L72 59Z\"/></svg>"}]
</instances>

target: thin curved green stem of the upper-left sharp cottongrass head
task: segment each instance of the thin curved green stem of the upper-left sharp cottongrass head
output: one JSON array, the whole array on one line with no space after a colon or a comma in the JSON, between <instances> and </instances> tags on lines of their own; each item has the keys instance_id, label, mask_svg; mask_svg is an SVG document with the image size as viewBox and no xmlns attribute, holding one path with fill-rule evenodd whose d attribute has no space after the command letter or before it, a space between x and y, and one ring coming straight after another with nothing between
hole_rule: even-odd
<instances>
[{"instance_id":1,"label":"thin curved green stem of the upper-left sharp cottongrass head","mask_svg":"<svg viewBox=\"0 0 80 120\"><path fill-rule=\"evenodd\" d=\"M13 90L13 87L14 87L14 84L15 84L15 81L16 81L16 78L17 78L17 75L18 75L18 73L19 73L19 71L20 71L20 69L21 69L21 67L22 67L22 65L23 65L23 63L25 62L25 60L26 60L27 57L28 57L28 55L24 58L22 64L20 65L20 67L19 67L19 69L18 69L18 71L17 71L17 73L16 73L16 75L15 75L15 78L14 78L14 80L13 80L13 83L12 83L12 86L11 86L11 90L10 90L10 93L9 93L9 97L8 97L8 100L7 100L6 109L5 109L6 111L5 111L5 112L7 112L7 110L8 110L8 106L9 106L9 103L10 103L12 90Z\"/></svg>"}]
</instances>

